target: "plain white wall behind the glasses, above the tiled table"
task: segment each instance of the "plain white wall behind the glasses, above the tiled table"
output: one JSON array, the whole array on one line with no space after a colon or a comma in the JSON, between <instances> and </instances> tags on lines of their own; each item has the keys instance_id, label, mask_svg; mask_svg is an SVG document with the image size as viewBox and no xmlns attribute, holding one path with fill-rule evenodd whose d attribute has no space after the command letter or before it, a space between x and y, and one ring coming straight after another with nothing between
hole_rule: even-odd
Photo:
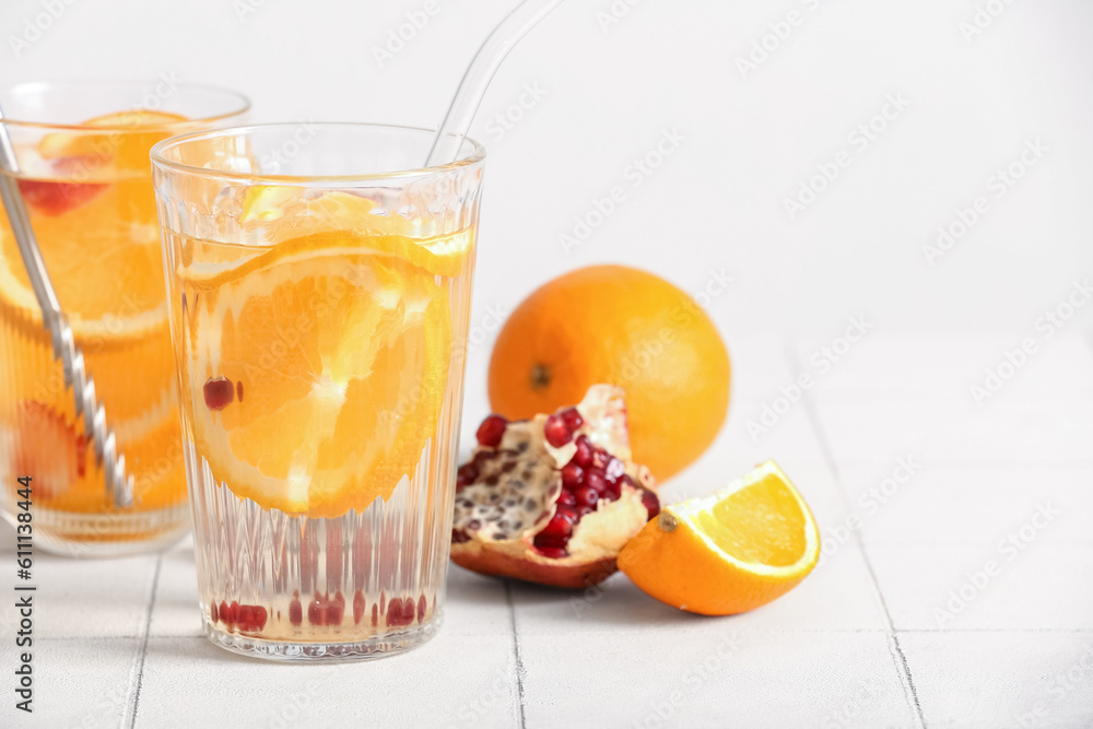
<instances>
[{"instance_id":1,"label":"plain white wall behind the glasses, above the tiled table","mask_svg":"<svg viewBox=\"0 0 1093 729\"><path fill-rule=\"evenodd\" d=\"M515 4L435 0L380 63L375 49L424 0L70 2L43 22L48 2L4 0L0 83L171 73L244 92L255 121L420 126L438 124ZM620 0L628 12L608 24L607 0L563 3L510 56L473 128L490 161L472 322L612 261L691 292L725 269L733 285L710 310L730 349L753 331L830 339L851 314L884 332L1029 329L1093 272L1093 3L994 0L1002 12L967 39L978 4ZM790 11L800 24L741 73ZM16 57L27 23L49 27ZM487 128L525 84L541 101L503 136ZM890 94L909 105L859 152L848 134ZM634 189L627 167L669 129L685 140ZM988 179L1036 139L1041 163L994 197ZM842 150L850 166L790 220L785 199ZM564 251L560 234L614 185L626 201ZM922 246L978 196L989 211L928 264Z\"/></svg>"}]
</instances>

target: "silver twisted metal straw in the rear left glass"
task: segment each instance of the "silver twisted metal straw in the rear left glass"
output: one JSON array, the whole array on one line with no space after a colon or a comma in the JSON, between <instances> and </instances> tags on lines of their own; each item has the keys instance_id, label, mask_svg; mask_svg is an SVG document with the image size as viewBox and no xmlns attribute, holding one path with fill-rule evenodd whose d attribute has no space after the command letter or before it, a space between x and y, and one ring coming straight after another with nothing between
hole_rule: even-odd
<instances>
[{"instance_id":1,"label":"silver twisted metal straw in the rear left glass","mask_svg":"<svg viewBox=\"0 0 1093 729\"><path fill-rule=\"evenodd\" d=\"M83 352L75 343L72 326L61 310L57 292L42 259L42 249L31 227L26 204L15 178L19 162L3 118L3 110L0 109L0 168L9 173L0 174L0 198L3 199L8 221L15 234L15 243L19 244L19 252L23 257L34 295L42 307L42 322L52 337L54 358L60 360L64 365L64 384L72 388L77 418L83 415L84 430L94 445L95 460L103 467L106 475L106 497L115 507L127 508L132 506L133 478L126 474L126 457L118 452L114 431L106 425L106 411L95 397L95 380L86 371Z\"/></svg>"}]
</instances>

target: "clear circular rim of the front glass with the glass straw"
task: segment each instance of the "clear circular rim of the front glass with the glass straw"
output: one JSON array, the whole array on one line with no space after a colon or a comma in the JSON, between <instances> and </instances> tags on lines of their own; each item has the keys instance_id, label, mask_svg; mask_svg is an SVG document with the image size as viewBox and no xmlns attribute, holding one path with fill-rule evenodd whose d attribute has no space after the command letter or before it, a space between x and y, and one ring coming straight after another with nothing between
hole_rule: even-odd
<instances>
[{"instance_id":1,"label":"clear circular rim of the front glass with the glass straw","mask_svg":"<svg viewBox=\"0 0 1093 729\"><path fill-rule=\"evenodd\" d=\"M443 172L450 172L453 169L472 167L474 165L481 164L482 161L485 160L485 145L474 139L471 139L470 137L462 137L462 142L470 144L471 146L470 152L465 155L461 155L454 162L448 162L442 165L408 167L406 169L392 169L390 172L381 172L381 173L362 172L360 174L352 174L352 175L272 175L272 174L260 174L260 173L240 173L230 169L218 169L213 167L199 167L197 165L190 165L184 162L176 162L174 160L168 160L166 156L164 156L164 152L169 148L174 148L180 144L186 144L189 142L201 141L204 139L213 139L216 137L240 137L256 129L293 128L293 127L298 127L302 124L313 125L316 127L327 127L327 128L349 127L354 129L374 129L374 130L386 129L396 131L424 132L430 136L436 134L436 129L428 129L426 127L413 127L409 125L381 124L372 121L307 120L307 121L273 121L267 124L242 125L238 127L222 127L220 129L205 129L201 131L193 131L161 140L160 142L157 142L152 146L150 153L152 158L152 165L155 167L171 169L172 172L199 175L201 177L210 177L210 178L214 177L218 179L226 179L233 181L263 183L271 185L285 185L285 186L299 187L316 183L318 184L353 183L353 181L371 181L371 180L383 180L383 179L392 179L402 177L423 177L426 175L435 175Z\"/></svg>"}]
</instances>

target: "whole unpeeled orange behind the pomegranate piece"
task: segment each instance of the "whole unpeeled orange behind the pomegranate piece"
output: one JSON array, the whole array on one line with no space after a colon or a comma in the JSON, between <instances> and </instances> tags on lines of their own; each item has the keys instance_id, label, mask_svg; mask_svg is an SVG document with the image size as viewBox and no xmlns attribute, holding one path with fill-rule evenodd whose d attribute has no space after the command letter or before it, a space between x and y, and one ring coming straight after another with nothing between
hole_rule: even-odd
<instances>
[{"instance_id":1,"label":"whole unpeeled orange behind the pomegranate piece","mask_svg":"<svg viewBox=\"0 0 1093 729\"><path fill-rule=\"evenodd\" d=\"M597 383L626 390L634 460L665 480L725 422L729 354L684 292L637 269L591 266L513 311L490 360L490 403L506 418L531 418L579 402Z\"/></svg>"}]
</instances>

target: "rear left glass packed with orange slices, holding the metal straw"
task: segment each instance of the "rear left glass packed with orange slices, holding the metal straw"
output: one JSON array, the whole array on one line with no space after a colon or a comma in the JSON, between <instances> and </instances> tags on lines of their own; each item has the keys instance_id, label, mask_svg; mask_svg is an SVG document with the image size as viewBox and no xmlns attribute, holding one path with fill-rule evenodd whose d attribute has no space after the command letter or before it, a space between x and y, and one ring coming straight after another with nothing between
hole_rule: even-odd
<instances>
[{"instance_id":1,"label":"rear left glass packed with orange slices, holding the metal straw","mask_svg":"<svg viewBox=\"0 0 1093 729\"><path fill-rule=\"evenodd\" d=\"M189 529L149 150L238 120L247 99L169 77L0 89L19 187L106 421L134 477L115 504L0 209L0 513L74 556L164 546ZM17 479L30 477L30 503Z\"/></svg>"}]
</instances>

